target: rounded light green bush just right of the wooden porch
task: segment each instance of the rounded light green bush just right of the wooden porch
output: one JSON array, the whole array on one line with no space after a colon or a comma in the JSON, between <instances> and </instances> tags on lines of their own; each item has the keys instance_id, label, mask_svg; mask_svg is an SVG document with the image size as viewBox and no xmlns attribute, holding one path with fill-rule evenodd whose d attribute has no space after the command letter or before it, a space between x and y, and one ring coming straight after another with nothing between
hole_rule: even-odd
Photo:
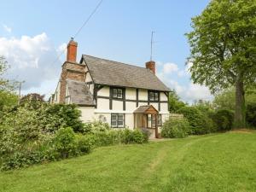
<instances>
[{"instance_id":1,"label":"rounded light green bush just right of the wooden porch","mask_svg":"<svg viewBox=\"0 0 256 192\"><path fill-rule=\"evenodd\" d=\"M168 119L161 128L161 136L166 138L183 138L190 133L187 119Z\"/></svg>"}]
</instances>

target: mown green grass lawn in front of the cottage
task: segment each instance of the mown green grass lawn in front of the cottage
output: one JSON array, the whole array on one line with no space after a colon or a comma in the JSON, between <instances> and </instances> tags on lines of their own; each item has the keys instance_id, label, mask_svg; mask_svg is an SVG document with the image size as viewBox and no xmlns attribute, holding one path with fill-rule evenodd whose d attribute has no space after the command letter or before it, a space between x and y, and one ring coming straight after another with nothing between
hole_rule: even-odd
<instances>
[{"instance_id":1,"label":"mown green grass lawn in front of the cottage","mask_svg":"<svg viewBox=\"0 0 256 192\"><path fill-rule=\"evenodd\" d=\"M256 191L256 133L96 148L82 157L1 172L0 191Z\"/></svg>"}]
</instances>

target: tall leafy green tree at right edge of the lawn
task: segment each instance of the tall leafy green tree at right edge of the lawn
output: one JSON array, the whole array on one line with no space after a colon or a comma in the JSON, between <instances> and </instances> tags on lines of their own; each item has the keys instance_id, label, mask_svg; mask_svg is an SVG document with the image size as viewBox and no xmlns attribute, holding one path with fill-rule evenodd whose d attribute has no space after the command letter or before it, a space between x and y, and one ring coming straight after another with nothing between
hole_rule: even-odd
<instances>
[{"instance_id":1,"label":"tall leafy green tree at right edge of the lawn","mask_svg":"<svg viewBox=\"0 0 256 192\"><path fill-rule=\"evenodd\" d=\"M191 26L191 79L212 93L235 86L235 128L244 127L245 89L256 81L256 1L212 0Z\"/></svg>"}]
</instances>

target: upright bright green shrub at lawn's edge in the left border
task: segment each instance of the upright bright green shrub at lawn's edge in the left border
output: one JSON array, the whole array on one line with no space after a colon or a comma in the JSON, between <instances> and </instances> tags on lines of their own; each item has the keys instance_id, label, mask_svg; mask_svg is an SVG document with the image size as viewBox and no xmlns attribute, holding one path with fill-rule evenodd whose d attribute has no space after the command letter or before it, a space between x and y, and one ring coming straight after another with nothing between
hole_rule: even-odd
<instances>
[{"instance_id":1,"label":"upright bright green shrub at lawn's edge in the left border","mask_svg":"<svg viewBox=\"0 0 256 192\"><path fill-rule=\"evenodd\" d=\"M77 152L75 134L71 127L61 128L56 132L55 149L61 154L62 158L67 158Z\"/></svg>"}]
</instances>

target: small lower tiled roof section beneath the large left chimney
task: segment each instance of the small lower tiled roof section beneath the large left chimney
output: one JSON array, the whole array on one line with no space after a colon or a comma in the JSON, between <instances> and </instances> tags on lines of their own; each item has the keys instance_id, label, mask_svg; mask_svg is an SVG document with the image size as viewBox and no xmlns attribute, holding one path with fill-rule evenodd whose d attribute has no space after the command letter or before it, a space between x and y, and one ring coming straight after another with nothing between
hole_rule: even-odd
<instances>
[{"instance_id":1,"label":"small lower tiled roof section beneath the large left chimney","mask_svg":"<svg viewBox=\"0 0 256 192\"><path fill-rule=\"evenodd\" d=\"M73 103L80 106L94 106L93 97L84 82L67 79L67 89Z\"/></svg>"}]
</instances>

